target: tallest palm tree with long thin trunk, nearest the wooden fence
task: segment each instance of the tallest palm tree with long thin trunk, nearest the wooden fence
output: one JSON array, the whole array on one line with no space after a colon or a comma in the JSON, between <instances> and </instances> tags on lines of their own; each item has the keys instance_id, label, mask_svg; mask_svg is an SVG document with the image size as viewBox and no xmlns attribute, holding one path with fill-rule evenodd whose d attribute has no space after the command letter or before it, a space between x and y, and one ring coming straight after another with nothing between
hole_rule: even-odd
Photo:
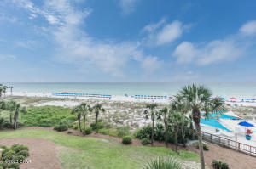
<instances>
[{"instance_id":1,"label":"tallest palm tree with long thin trunk, nearest the wooden fence","mask_svg":"<svg viewBox=\"0 0 256 169\"><path fill-rule=\"evenodd\" d=\"M184 101L189 103L190 110L192 110L192 118L195 123L199 141L201 169L205 169L200 127L201 110L205 111L206 114L210 113L212 110L223 110L224 102L220 99L211 99L211 90L204 86L197 86L196 84L183 87L183 89L179 91L179 95L183 97Z\"/></svg>"}]
</instances>

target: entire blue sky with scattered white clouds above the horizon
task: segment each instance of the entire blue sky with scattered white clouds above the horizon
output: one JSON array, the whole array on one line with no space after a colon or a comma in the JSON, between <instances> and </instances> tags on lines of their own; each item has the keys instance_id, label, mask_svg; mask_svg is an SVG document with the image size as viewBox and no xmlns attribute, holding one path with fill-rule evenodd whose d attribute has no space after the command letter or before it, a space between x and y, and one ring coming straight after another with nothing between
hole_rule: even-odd
<instances>
[{"instance_id":1,"label":"entire blue sky with scattered white clouds above the horizon","mask_svg":"<svg viewBox=\"0 0 256 169\"><path fill-rule=\"evenodd\" d=\"M0 0L0 82L256 82L255 8Z\"/></svg>"}]
</instances>

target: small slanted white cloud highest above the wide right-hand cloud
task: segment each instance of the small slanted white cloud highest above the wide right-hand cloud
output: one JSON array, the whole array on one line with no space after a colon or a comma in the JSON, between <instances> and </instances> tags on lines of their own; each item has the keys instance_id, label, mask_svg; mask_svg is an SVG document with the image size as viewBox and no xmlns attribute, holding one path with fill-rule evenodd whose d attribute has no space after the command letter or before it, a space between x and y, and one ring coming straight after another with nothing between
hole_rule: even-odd
<instances>
[{"instance_id":1,"label":"small slanted white cloud highest above the wide right-hand cloud","mask_svg":"<svg viewBox=\"0 0 256 169\"><path fill-rule=\"evenodd\" d=\"M182 36L183 31L188 31L191 25L183 25L180 21L166 23L165 19L156 24L146 25L142 32L147 32L146 43L148 46L161 46L174 42Z\"/></svg>"}]
</instances>

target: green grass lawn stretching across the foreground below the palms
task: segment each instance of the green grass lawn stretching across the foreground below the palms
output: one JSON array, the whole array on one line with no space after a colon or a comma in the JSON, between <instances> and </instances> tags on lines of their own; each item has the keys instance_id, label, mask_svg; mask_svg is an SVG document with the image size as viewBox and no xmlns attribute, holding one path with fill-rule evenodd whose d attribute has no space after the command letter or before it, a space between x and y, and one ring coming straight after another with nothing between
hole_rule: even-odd
<instances>
[{"instance_id":1,"label":"green grass lawn stretching across the foreground below the palms","mask_svg":"<svg viewBox=\"0 0 256 169\"><path fill-rule=\"evenodd\" d=\"M184 161L199 161L198 155L180 151L179 155L164 147L125 146L112 139L67 135L49 130L27 129L0 132L0 138L44 138L61 145L57 149L63 168L142 168L148 159L174 155Z\"/></svg>"}]
</instances>

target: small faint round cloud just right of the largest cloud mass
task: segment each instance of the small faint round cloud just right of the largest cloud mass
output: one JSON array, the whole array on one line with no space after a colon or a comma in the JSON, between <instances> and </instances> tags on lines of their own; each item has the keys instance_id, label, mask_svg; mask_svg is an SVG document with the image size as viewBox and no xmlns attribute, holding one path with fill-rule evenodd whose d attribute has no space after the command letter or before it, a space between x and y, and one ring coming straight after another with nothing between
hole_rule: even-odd
<instances>
[{"instance_id":1,"label":"small faint round cloud just right of the largest cloud mass","mask_svg":"<svg viewBox=\"0 0 256 169\"><path fill-rule=\"evenodd\" d=\"M145 70L148 74L160 69L162 65L162 61L160 61L156 56L148 56L141 62L143 70Z\"/></svg>"}]
</instances>

